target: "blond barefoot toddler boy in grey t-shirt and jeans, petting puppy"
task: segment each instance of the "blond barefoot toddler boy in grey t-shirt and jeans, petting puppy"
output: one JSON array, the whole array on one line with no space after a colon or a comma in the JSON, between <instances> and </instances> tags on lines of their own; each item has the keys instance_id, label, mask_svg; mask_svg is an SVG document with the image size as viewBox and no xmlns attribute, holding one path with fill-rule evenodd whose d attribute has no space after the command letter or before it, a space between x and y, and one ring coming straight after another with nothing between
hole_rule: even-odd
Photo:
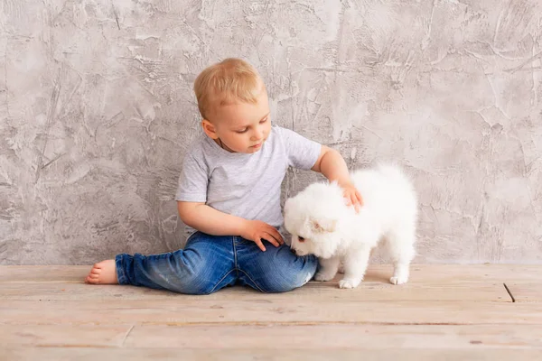
<instances>
[{"instance_id":1,"label":"blond barefoot toddler boy in grey t-shirt and jeans, petting puppy","mask_svg":"<svg viewBox=\"0 0 542 361\"><path fill-rule=\"evenodd\" d=\"M281 183L288 166L337 180L358 209L361 197L341 154L285 128L271 126L266 87L247 62L227 59L194 83L205 134L184 157L176 200L192 228L182 250L117 255L95 264L89 283L120 283L189 294L233 284L287 292L313 278L313 255L296 256L277 228L283 223Z\"/></svg>"}]
</instances>

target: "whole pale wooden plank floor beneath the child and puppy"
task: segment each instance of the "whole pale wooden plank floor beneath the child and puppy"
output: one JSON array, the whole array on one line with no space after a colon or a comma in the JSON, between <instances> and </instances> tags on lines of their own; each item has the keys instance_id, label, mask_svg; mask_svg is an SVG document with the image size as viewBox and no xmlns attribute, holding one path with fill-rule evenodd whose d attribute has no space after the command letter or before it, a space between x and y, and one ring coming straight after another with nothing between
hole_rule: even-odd
<instances>
[{"instance_id":1,"label":"whole pale wooden plank floor beneath the child and puppy","mask_svg":"<svg viewBox=\"0 0 542 361\"><path fill-rule=\"evenodd\" d=\"M88 271L0 266L0 360L542 360L542 266L414 265L402 286L373 266L356 290L210 296Z\"/></svg>"}]
</instances>

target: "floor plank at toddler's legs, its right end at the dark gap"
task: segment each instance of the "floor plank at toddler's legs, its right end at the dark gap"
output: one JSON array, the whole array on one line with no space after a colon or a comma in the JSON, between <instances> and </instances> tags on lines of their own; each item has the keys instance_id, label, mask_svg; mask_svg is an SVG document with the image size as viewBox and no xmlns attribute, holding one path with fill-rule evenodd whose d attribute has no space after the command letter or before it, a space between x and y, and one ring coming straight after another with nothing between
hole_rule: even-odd
<instances>
[{"instance_id":1,"label":"floor plank at toddler's legs, its right end at the dark gap","mask_svg":"<svg viewBox=\"0 0 542 361\"><path fill-rule=\"evenodd\" d=\"M208 296L180 295L145 287L92 285L64 282L0 282L0 300L5 301L92 301L145 300L173 298L206 301L496 301L511 302L502 282L409 282L400 286L362 282L354 290L340 290L337 282L309 282L293 292L262 294L247 287L229 287Z\"/></svg>"}]
</instances>

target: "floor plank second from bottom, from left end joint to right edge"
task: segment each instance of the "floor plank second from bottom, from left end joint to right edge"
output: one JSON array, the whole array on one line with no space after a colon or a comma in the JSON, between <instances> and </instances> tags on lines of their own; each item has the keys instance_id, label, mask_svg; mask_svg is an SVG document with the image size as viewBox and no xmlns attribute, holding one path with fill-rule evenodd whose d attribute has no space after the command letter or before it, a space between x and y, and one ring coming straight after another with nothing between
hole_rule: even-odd
<instances>
[{"instance_id":1,"label":"floor plank second from bottom, from left end joint to right edge","mask_svg":"<svg viewBox=\"0 0 542 361\"><path fill-rule=\"evenodd\" d=\"M540 348L530 325L135 326L126 347L164 348Z\"/></svg>"}]
</instances>

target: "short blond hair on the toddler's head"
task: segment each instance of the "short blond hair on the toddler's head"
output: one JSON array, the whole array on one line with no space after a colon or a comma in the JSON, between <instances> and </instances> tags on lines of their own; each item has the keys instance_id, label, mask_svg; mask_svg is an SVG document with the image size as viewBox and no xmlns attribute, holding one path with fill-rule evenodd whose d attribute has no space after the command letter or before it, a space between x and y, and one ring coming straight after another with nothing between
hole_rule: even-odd
<instances>
[{"instance_id":1,"label":"short blond hair on the toddler's head","mask_svg":"<svg viewBox=\"0 0 542 361\"><path fill-rule=\"evenodd\" d=\"M194 82L194 92L203 119L212 106L238 101L256 104L260 94L260 77L245 60L228 58L203 69Z\"/></svg>"}]
</instances>

